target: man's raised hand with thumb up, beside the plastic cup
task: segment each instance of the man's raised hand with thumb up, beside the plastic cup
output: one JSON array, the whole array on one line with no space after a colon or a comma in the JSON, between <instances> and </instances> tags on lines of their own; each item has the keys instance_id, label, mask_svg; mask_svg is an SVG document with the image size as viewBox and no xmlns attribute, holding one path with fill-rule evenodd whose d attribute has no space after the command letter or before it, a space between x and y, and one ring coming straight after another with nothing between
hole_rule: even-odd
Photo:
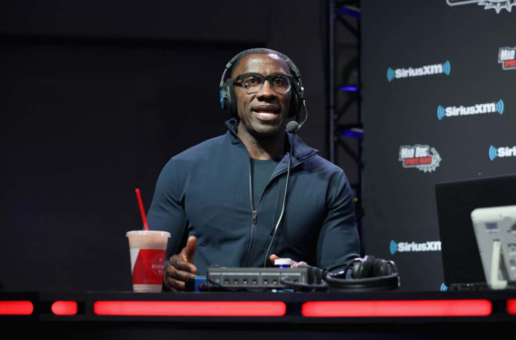
<instances>
[{"instance_id":1,"label":"man's raised hand with thumb up, beside the plastic cup","mask_svg":"<svg viewBox=\"0 0 516 340\"><path fill-rule=\"evenodd\" d=\"M170 256L163 273L163 283L172 292L185 290L185 281L195 277L197 267L193 265L193 255L196 249L197 238L190 236L186 241L186 247L179 254Z\"/></svg>"}]
</instances>

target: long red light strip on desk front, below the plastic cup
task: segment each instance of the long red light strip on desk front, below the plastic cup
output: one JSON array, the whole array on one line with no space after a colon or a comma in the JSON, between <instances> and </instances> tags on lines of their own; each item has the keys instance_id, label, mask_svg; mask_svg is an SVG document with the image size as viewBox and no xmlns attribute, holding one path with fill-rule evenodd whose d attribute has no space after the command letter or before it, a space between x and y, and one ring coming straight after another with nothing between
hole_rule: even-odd
<instances>
[{"instance_id":1,"label":"long red light strip on desk front, below the plastic cup","mask_svg":"<svg viewBox=\"0 0 516 340\"><path fill-rule=\"evenodd\" d=\"M283 316L281 301L95 301L96 315Z\"/></svg>"}]
</instances>

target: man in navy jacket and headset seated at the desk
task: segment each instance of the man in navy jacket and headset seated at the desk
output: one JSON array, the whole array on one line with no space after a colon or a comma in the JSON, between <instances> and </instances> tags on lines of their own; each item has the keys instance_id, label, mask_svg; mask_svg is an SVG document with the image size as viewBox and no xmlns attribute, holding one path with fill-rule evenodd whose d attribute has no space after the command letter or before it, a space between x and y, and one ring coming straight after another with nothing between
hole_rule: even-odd
<instances>
[{"instance_id":1,"label":"man in navy jacket and headset seated at the desk","mask_svg":"<svg viewBox=\"0 0 516 340\"><path fill-rule=\"evenodd\" d=\"M287 257L337 270L359 256L346 175L285 132L302 104L297 67L264 48L233 60L221 80L221 103L234 116L228 132L172 157L149 209L150 228L171 233L169 290L184 290L209 265L263 267Z\"/></svg>"}]
</instances>

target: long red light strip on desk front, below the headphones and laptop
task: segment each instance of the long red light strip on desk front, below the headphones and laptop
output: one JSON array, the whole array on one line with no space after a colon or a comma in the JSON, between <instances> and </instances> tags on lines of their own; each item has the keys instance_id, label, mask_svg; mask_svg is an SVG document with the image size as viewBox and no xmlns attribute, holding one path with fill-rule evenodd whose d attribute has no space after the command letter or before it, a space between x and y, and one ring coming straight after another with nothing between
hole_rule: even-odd
<instances>
[{"instance_id":1,"label":"long red light strip on desk front, below the headphones and laptop","mask_svg":"<svg viewBox=\"0 0 516 340\"><path fill-rule=\"evenodd\" d=\"M489 300L310 301L306 317L487 316Z\"/></svg>"}]
</instances>

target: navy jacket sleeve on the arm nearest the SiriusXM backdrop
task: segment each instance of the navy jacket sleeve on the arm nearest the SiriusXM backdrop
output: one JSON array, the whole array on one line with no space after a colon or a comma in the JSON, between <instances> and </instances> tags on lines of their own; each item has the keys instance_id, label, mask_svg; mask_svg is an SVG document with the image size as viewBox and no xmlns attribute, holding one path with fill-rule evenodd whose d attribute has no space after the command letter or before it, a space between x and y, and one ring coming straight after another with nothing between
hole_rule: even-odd
<instances>
[{"instance_id":1,"label":"navy jacket sleeve on the arm nearest the SiriusXM backdrop","mask_svg":"<svg viewBox=\"0 0 516 340\"><path fill-rule=\"evenodd\" d=\"M360 239L355 224L351 187L342 172L330 195L327 216L319 233L317 267L335 272L344 269L359 256Z\"/></svg>"}]
</instances>

